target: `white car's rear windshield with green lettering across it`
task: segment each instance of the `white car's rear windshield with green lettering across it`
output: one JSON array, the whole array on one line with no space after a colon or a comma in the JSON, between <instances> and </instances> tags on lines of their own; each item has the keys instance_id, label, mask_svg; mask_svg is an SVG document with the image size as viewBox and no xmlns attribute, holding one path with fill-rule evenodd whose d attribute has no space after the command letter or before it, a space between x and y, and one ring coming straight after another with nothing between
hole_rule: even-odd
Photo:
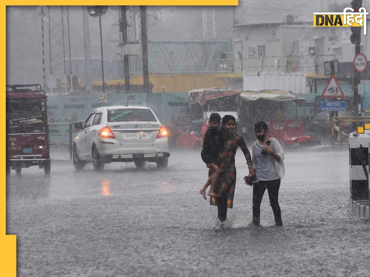
<instances>
[{"instance_id":1,"label":"white car's rear windshield with green lettering across it","mask_svg":"<svg viewBox=\"0 0 370 277\"><path fill-rule=\"evenodd\" d=\"M108 122L118 121L155 121L154 114L148 109L115 109L108 110Z\"/></svg>"}]
</instances>

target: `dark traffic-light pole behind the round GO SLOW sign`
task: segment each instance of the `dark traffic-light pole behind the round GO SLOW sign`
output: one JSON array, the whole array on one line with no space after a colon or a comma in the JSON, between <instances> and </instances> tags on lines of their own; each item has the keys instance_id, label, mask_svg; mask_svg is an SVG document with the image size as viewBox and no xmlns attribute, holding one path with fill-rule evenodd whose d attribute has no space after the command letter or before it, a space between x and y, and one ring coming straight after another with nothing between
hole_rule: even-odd
<instances>
[{"instance_id":1,"label":"dark traffic-light pole behind the round GO SLOW sign","mask_svg":"<svg viewBox=\"0 0 370 277\"><path fill-rule=\"evenodd\" d=\"M351 6L354 10L359 10L362 6L362 0L353 0ZM360 54L361 27L350 27L352 34L351 42L354 44L354 55ZM359 95L360 72L354 71L353 79L353 113L355 116L361 116L361 96Z\"/></svg>"}]
</instances>

